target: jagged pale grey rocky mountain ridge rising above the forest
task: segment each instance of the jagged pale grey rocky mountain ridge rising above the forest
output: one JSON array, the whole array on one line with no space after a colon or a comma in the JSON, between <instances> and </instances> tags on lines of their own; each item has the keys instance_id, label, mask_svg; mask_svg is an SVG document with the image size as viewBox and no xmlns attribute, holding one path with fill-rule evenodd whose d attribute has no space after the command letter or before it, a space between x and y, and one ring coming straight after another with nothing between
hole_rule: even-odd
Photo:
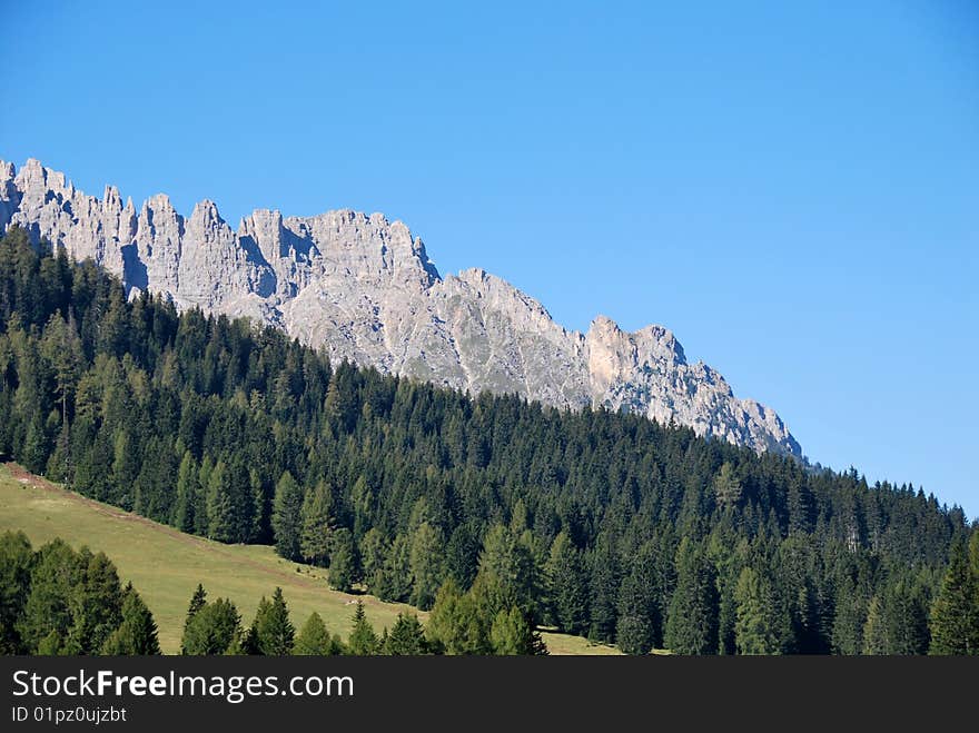
<instances>
[{"instance_id":1,"label":"jagged pale grey rocky mountain ridge rising above the forest","mask_svg":"<svg viewBox=\"0 0 979 733\"><path fill-rule=\"evenodd\" d=\"M755 450L801 456L779 416L734 397L709 366L690 365L661 326L621 330L600 316L587 334L482 269L442 277L425 246L380 214L283 218L256 210L233 230L212 201L180 216L162 195L140 209L115 187L86 196L63 174L0 161L0 230L63 246L180 308L248 316L323 347L334 360L468 389L518 394L673 420Z\"/></svg>"}]
</instances>

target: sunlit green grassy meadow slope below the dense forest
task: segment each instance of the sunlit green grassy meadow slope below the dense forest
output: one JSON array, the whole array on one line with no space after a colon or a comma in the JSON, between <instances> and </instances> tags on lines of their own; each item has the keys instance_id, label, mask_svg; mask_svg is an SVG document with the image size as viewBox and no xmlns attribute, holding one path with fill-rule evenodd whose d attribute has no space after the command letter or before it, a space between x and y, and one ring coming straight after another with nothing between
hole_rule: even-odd
<instances>
[{"instance_id":1,"label":"sunlit green grassy meadow slope below the dense forest","mask_svg":"<svg viewBox=\"0 0 979 733\"><path fill-rule=\"evenodd\" d=\"M285 561L271 547L222 545L182 534L29 476L12 464L0 465L0 532L7 529L23 531L36 547L61 537L72 546L105 552L121 580L131 581L149 605L166 653L179 650L184 615L198 583L209 597L234 601L245 623L254 617L258 600L281 586L297 627L317 611L329 631L342 636L347 635L357 598L327 587L324 571ZM378 632L409 608L360 597ZM424 620L426 614L418 615ZM544 638L552 654L617 653L577 636Z\"/></svg>"}]
</instances>

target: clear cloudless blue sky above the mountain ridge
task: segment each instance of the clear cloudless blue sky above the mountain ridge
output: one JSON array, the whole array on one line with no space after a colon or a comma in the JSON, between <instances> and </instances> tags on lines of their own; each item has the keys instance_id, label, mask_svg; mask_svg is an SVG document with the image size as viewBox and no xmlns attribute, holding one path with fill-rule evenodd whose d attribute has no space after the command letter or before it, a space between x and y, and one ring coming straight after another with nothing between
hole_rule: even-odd
<instances>
[{"instance_id":1,"label":"clear cloudless blue sky above the mountain ridge","mask_svg":"<svg viewBox=\"0 0 979 733\"><path fill-rule=\"evenodd\" d=\"M53 4L4 3L0 158L384 211L979 516L977 3Z\"/></svg>"}]
</instances>

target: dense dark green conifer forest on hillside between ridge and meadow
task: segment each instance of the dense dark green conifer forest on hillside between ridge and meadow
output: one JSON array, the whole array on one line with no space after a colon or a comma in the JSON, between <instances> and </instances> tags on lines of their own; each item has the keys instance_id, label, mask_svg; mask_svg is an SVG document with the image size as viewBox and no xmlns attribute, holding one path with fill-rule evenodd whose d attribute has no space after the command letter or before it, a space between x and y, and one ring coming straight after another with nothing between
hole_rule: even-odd
<instances>
[{"instance_id":1,"label":"dense dark green conifer forest on hillside between ridge and meadow","mask_svg":"<svg viewBox=\"0 0 979 733\"><path fill-rule=\"evenodd\" d=\"M534 624L630 653L979 650L976 533L911 486L330 364L270 327L127 303L19 229L0 241L0 452L435 605L449 652L504 633L532 651Z\"/></svg>"}]
</instances>

